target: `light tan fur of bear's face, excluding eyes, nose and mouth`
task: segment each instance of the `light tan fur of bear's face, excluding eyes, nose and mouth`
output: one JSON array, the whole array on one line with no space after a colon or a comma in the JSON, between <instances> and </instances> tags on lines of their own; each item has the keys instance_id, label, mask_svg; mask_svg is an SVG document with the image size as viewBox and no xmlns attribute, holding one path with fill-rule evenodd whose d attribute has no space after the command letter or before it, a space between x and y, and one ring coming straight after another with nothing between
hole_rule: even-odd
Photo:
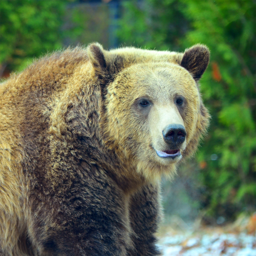
<instances>
[{"instance_id":1,"label":"light tan fur of bear's face, excluding eyes, nose and mouth","mask_svg":"<svg viewBox=\"0 0 256 256\"><path fill-rule=\"evenodd\" d=\"M175 105L175 96L186 99L183 118ZM147 116L135 107L137 99L152 103ZM163 159L155 150L167 150L163 141L163 129L170 124L184 125L186 141L180 148L185 154L186 144L195 135L200 112L200 95L195 80L187 70L177 64L160 62L137 64L123 70L108 87L107 109L110 134L119 142L119 151L134 159L137 171L146 179L172 177L178 161ZM122 127L122 129L120 129Z\"/></svg>"}]
</instances>

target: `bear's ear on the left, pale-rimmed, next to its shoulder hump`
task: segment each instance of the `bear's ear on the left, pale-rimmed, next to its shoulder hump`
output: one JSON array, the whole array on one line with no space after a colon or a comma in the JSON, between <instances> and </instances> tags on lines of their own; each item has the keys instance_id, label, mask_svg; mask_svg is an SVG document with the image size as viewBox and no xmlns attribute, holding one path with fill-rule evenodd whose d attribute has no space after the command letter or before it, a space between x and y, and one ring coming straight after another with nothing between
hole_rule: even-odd
<instances>
[{"instance_id":1,"label":"bear's ear on the left, pale-rimmed, next to its shoulder hump","mask_svg":"<svg viewBox=\"0 0 256 256\"><path fill-rule=\"evenodd\" d=\"M102 45L99 43L93 43L87 47L90 63L93 65L95 73L101 76L107 73L107 62L104 52Z\"/></svg>"}]
</instances>

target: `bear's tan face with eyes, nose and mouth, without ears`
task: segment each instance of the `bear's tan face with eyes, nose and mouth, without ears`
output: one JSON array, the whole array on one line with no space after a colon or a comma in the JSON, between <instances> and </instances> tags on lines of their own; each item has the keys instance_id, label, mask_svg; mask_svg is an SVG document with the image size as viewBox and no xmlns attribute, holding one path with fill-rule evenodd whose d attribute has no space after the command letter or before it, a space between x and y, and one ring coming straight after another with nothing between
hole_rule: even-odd
<instances>
[{"instance_id":1,"label":"bear's tan face with eyes, nose and mouth, without ears","mask_svg":"<svg viewBox=\"0 0 256 256\"><path fill-rule=\"evenodd\" d=\"M196 80L161 58L128 65L122 57L121 62L104 96L109 146L148 179L172 175L208 124L209 116L201 122L202 108L207 111Z\"/></svg>"}]
</instances>

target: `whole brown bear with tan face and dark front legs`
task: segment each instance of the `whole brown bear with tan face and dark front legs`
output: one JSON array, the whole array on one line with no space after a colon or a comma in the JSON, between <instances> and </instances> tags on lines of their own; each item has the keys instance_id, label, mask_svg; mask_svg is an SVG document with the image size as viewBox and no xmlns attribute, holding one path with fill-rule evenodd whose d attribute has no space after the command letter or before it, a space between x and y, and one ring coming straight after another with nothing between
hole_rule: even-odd
<instances>
[{"instance_id":1,"label":"whole brown bear with tan face and dark front legs","mask_svg":"<svg viewBox=\"0 0 256 256\"><path fill-rule=\"evenodd\" d=\"M99 44L0 85L0 256L156 256L160 177L206 131L209 50Z\"/></svg>"}]
</instances>

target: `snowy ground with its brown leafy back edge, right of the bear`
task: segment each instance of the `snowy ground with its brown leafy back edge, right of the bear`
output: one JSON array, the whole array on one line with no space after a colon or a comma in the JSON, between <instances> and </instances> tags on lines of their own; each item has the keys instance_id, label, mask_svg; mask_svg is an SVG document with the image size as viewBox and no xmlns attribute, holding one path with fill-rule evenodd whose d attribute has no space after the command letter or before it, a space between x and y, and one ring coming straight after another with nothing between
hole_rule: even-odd
<instances>
[{"instance_id":1,"label":"snowy ground with its brown leafy back edge, right of the bear","mask_svg":"<svg viewBox=\"0 0 256 256\"><path fill-rule=\"evenodd\" d=\"M256 233L248 229L200 227L189 231L165 227L163 256L256 256Z\"/></svg>"}]
</instances>

